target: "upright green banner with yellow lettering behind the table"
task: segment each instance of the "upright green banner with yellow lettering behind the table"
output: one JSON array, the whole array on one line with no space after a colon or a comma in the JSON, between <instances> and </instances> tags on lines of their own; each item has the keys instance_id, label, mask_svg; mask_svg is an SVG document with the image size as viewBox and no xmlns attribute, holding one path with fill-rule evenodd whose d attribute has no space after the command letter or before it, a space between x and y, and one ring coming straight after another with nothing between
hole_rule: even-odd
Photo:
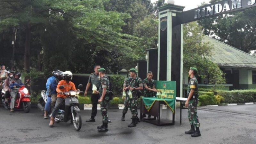
<instances>
[{"instance_id":1,"label":"upright green banner with yellow lettering behind the table","mask_svg":"<svg viewBox=\"0 0 256 144\"><path fill-rule=\"evenodd\" d=\"M158 92L165 93L164 98L176 100L176 81L155 81Z\"/></svg>"}]
</instances>

